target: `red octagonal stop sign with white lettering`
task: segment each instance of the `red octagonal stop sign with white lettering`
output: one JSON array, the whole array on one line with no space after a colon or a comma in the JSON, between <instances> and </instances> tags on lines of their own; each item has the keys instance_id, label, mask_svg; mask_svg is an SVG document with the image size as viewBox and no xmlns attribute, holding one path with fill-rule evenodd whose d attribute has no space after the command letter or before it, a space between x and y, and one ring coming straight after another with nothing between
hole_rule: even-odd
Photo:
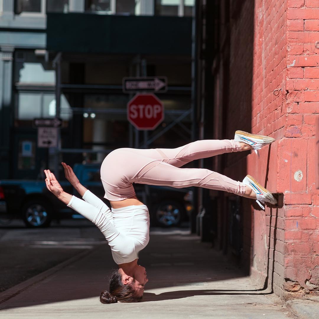
<instances>
[{"instance_id":1,"label":"red octagonal stop sign with white lettering","mask_svg":"<svg viewBox=\"0 0 319 319\"><path fill-rule=\"evenodd\" d=\"M154 130L164 119L163 104L152 93L136 94L127 104L127 119L138 130Z\"/></svg>"}]
</instances>

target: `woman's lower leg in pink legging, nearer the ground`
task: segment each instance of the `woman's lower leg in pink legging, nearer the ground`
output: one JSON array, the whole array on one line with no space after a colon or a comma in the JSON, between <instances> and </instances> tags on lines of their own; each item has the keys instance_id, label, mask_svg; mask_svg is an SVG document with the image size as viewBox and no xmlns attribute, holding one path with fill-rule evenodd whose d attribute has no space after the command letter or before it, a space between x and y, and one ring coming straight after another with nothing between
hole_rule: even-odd
<instances>
[{"instance_id":1,"label":"woman's lower leg in pink legging, nearer the ground","mask_svg":"<svg viewBox=\"0 0 319 319\"><path fill-rule=\"evenodd\" d=\"M178 168L158 161L146 165L135 176L134 182L175 188L197 186L256 198L254 192L251 192L245 184L222 174L203 168Z\"/></svg>"}]
</instances>

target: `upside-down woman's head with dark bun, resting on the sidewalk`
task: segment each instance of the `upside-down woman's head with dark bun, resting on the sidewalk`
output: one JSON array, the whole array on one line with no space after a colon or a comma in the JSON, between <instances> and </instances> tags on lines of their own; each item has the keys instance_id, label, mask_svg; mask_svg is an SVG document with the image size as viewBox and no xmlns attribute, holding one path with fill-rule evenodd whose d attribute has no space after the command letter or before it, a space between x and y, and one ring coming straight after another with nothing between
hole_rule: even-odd
<instances>
[{"instance_id":1,"label":"upside-down woman's head with dark bun, resting on the sidewalk","mask_svg":"<svg viewBox=\"0 0 319 319\"><path fill-rule=\"evenodd\" d=\"M139 302L142 300L146 278L145 268L139 265L134 267L133 276L127 275L122 269L111 273L110 291L102 291L102 303Z\"/></svg>"}]
</instances>

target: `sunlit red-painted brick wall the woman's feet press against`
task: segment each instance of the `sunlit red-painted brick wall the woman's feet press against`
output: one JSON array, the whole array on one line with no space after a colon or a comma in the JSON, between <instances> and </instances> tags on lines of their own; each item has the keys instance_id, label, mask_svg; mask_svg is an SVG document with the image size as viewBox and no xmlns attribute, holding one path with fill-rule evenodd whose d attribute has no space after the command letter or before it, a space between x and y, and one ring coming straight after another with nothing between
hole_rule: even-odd
<instances>
[{"instance_id":1,"label":"sunlit red-painted brick wall the woman's feet press against","mask_svg":"<svg viewBox=\"0 0 319 319\"><path fill-rule=\"evenodd\" d=\"M243 200L244 256L280 295L319 290L318 7L318 0L246 0L230 20L224 133L232 138L235 130L251 130L276 142L260 150L259 158L253 152L227 154L224 174L236 180L250 174L283 194L278 208L265 211Z\"/></svg>"}]
</instances>

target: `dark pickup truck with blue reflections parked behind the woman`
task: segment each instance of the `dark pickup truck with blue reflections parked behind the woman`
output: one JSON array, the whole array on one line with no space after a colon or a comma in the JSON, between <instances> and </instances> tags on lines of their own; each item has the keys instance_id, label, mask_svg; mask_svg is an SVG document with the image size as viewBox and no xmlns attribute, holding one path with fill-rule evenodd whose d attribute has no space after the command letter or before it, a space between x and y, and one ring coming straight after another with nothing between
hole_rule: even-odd
<instances>
[{"instance_id":1,"label":"dark pickup truck with blue reflections parked behind the woman","mask_svg":"<svg viewBox=\"0 0 319 319\"><path fill-rule=\"evenodd\" d=\"M99 164L75 164L74 173L79 181L96 196L103 198ZM60 182L63 189L79 196L67 181ZM178 226L187 220L192 210L192 190L168 186L134 185L137 196L148 206L152 226ZM44 181L0 181L0 216L20 217L27 227L47 227L52 219L84 218L73 211L52 193Z\"/></svg>"}]
</instances>

